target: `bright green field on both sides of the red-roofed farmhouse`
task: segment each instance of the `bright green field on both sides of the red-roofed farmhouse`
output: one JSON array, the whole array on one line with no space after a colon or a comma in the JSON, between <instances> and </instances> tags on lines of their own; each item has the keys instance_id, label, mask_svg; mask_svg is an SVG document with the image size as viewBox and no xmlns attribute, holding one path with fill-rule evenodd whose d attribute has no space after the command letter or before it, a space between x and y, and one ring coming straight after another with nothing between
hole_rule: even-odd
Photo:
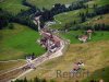
<instances>
[{"instance_id":1,"label":"bright green field on both sides of the red-roofed farmhouse","mask_svg":"<svg viewBox=\"0 0 109 82\"><path fill-rule=\"evenodd\" d=\"M81 43L76 36L83 35L83 31L70 31L68 33L61 33L63 38L70 39L71 44L78 44ZM109 40L109 32L95 32L92 35L92 39L88 42L99 42L99 40Z\"/></svg>"}]
</instances>

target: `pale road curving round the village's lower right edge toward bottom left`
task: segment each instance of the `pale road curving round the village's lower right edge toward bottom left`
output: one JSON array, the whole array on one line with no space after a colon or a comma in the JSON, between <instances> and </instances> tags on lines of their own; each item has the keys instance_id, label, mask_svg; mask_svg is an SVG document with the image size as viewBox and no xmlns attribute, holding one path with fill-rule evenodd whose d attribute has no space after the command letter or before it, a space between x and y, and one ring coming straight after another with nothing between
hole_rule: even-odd
<instances>
[{"instance_id":1,"label":"pale road curving round the village's lower right edge toward bottom left","mask_svg":"<svg viewBox=\"0 0 109 82\"><path fill-rule=\"evenodd\" d=\"M62 40L62 42L61 42L61 47L60 47L60 49L59 49L58 51L56 51L56 52L53 52L53 54L51 54L51 55L49 55L49 56L48 56L48 54L46 52L46 54L44 54L43 56L36 58L35 60L33 60L34 66L35 66L35 67L38 67L39 65L41 65L41 63L45 62L45 61L48 61L48 60L50 60L50 59L52 59L52 58L57 58L57 57L59 57L59 56L62 56L62 55L63 55L63 51L62 51L62 50L63 50L63 48L65 47L66 44L68 44L66 42L63 42L63 40ZM15 81L16 79L22 78L23 75L29 73L31 71L34 71L34 69L29 69L29 70L23 72L22 74L20 74L17 78L13 79L12 81ZM9 81L9 82L10 82L10 81Z\"/></svg>"}]
</instances>

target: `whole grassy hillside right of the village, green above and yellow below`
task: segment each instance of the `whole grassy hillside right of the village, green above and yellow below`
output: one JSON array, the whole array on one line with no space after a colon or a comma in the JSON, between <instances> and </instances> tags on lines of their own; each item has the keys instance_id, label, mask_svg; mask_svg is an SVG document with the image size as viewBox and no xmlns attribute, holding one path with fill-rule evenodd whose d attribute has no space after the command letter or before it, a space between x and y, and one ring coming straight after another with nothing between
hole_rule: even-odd
<instances>
[{"instance_id":1,"label":"whole grassy hillside right of the village, green above and yellow below","mask_svg":"<svg viewBox=\"0 0 109 82\"><path fill-rule=\"evenodd\" d=\"M101 14L96 15L93 17L86 19L85 22L81 23L81 17L78 16L80 13L88 13L94 12L94 4L98 7L104 7L109 4L107 0L93 0L86 2L88 4L88 9L78 9L70 12L63 12L60 14L55 15L56 24L50 25L53 30L62 30L69 28L69 24L76 21L76 25L84 26L90 25L94 26L95 24L105 24L109 25L108 23L108 15ZM100 19L99 19L100 17ZM65 26L68 24L68 26ZM65 26L65 27L64 27ZM72 25L71 27L74 27ZM68 28L66 28L68 27ZM55 81L55 82L75 82L78 80L80 82L89 82L90 80L100 80L104 79L105 82L108 82L108 72L109 72L109 56L108 56L108 44L109 44L109 32L108 31L95 31L92 36L92 39L88 40L86 44L82 44L76 36L82 35L84 30L70 30L69 32L60 31L60 36L66 39L70 39L70 46L68 51L64 56L56 58L53 60L47 61L44 65L39 66L33 72L25 74L23 78L27 78L27 80L34 79L36 77L46 79L47 81ZM89 71L89 77L81 78L69 78L65 74L65 78L57 78L57 70L61 70L62 72L70 72L74 68L74 62L82 60L85 63L85 71ZM105 70L105 71L104 71ZM21 79L23 79L21 78Z\"/></svg>"}]
</instances>

